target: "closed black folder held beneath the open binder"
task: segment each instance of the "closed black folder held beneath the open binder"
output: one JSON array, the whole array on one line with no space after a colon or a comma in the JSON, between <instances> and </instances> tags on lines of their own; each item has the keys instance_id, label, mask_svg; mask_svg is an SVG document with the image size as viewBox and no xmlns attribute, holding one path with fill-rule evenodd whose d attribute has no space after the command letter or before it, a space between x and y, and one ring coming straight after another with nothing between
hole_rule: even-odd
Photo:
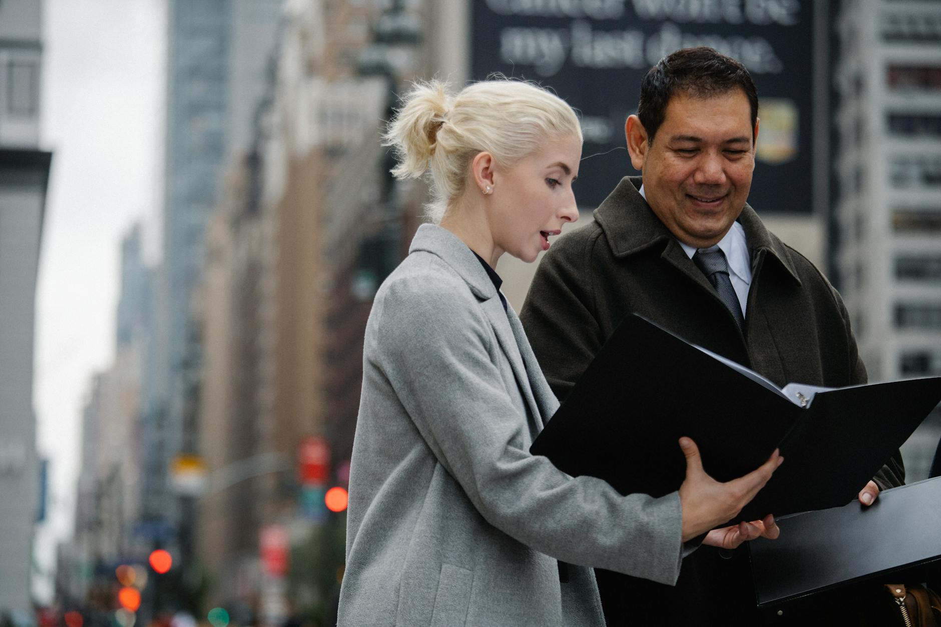
<instances>
[{"instance_id":1,"label":"closed black folder held beneath the open binder","mask_svg":"<svg viewBox=\"0 0 941 627\"><path fill-rule=\"evenodd\" d=\"M821 592L917 583L941 572L941 477L884 490L869 507L851 503L777 524L778 539L748 543L768 624L812 612Z\"/></svg>"}]
</instances>

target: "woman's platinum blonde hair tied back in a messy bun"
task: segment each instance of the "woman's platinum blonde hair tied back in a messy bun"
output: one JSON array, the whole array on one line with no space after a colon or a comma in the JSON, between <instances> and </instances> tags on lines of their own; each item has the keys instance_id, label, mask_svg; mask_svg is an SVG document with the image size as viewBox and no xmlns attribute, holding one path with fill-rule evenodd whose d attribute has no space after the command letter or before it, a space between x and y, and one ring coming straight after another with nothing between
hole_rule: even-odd
<instances>
[{"instance_id":1,"label":"woman's platinum blonde hair tied back in a messy bun","mask_svg":"<svg viewBox=\"0 0 941 627\"><path fill-rule=\"evenodd\" d=\"M511 167L547 141L582 138L572 107L534 83L494 76L456 95L449 88L437 80L415 83L383 136L383 145L396 154L396 178L420 178L430 170L434 201L425 214L432 222L464 193L477 153L491 153L499 165Z\"/></svg>"}]
</instances>

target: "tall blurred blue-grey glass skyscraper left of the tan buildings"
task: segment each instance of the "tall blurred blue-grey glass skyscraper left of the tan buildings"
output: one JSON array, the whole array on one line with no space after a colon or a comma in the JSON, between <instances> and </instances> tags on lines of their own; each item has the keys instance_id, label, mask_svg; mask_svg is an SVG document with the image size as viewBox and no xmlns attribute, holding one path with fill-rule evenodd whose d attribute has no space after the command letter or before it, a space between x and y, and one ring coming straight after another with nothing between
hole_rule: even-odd
<instances>
[{"instance_id":1,"label":"tall blurred blue-grey glass skyscraper left of the tan buildings","mask_svg":"<svg viewBox=\"0 0 941 627\"><path fill-rule=\"evenodd\" d=\"M280 4L170 0L168 6L163 262L141 422L140 528L155 542L187 542L189 511L175 498L169 466L181 454L198 453L200 350L192 297L222 169L247 152Z\"/></svg>"}]
</instances>

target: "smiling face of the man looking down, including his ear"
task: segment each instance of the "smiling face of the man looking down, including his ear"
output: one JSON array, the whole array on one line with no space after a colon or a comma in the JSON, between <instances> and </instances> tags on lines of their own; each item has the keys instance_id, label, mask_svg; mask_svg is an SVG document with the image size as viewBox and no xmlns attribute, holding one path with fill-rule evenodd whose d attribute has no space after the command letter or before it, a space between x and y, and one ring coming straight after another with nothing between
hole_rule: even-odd
<instances>
[{"instance_id":1,"label":"smiling face of the man looking down, including his ear","mask_svg":"<svg viewBox=\"0 0 941 627\"><path fill-rule=\"evenodd\" d=\"M647 204L677 239L699 249L725 236L748 198L758 122L742 89L700 98L679 91L653 142L636 116L625 125Z\"/></svg>"}]
</instances>

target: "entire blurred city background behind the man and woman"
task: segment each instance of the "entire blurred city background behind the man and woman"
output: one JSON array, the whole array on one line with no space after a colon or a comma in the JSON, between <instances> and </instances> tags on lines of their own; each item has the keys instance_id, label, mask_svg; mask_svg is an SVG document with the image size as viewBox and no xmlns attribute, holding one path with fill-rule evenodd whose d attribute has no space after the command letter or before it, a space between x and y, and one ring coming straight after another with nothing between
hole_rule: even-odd
<instances>
[{"instance_id":1,"label":"entire blurred city background behind the man and woman","mask_svg":"<svg viewBox=\"0 0 941 627\"><path fill-rule=\"evenodd\" d=\"M691 45L753 73L749 203L869 380L941 376L936 1L0 0L0 627L336 624L363 332L428 200L380 145L399 94L552 88L575 229ZM498 267L517 311L538 263Z\"/></svg>"}]
</instances>

